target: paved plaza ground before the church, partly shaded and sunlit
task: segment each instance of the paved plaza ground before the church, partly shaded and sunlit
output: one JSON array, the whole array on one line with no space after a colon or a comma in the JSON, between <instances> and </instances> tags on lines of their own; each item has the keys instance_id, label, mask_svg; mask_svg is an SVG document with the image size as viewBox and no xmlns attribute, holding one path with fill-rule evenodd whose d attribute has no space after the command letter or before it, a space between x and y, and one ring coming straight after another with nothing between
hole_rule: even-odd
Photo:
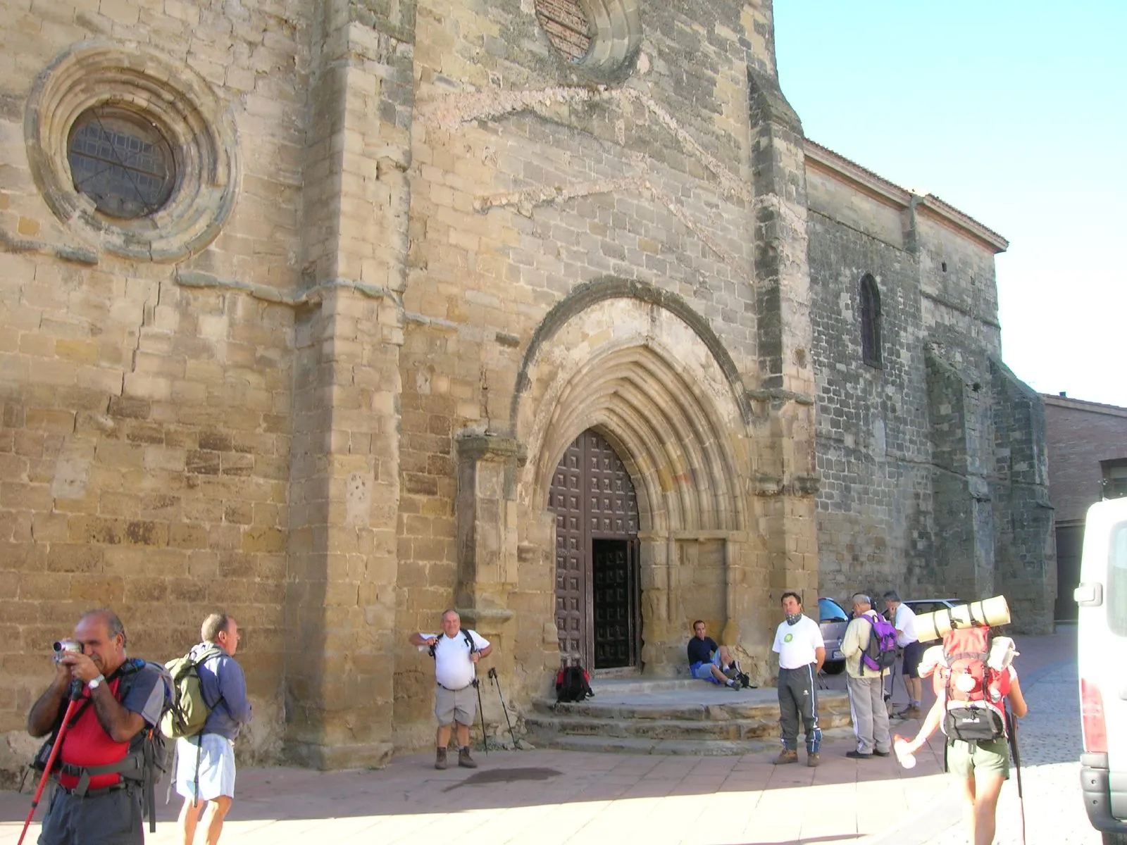
<instances>
[{"instance_id":1,"label":"paved plaza ground before the church, partly shaded and sunlit","mask_svg":"<svg viewBox=\"0 0 1127 845\"><path fill-rule=\"evenodd\" d=\"M1030 703L1021 723L1030 845L1098 845L1080 799L1075 631L1022 638L1019 670ZM832 685L841 683L831 678ZM903 696L903 692L898 693ZM915 723L897 723L900 732ZM894 727L894 730L896 728ZM774 751L736 757L476 751L476 771L437 772L433 754L380 771L257 768L239 773L224 828L231 843L308 842L878 843L955 845L959 803L932 740L911 771L891 759L853 762L846 731L831 731L818 768L773 766ZM158 797L163 801L162 794ZM27 794L0 794L0 845L15 843ZM149 843L177 842L175 806L161 804ZM1015 783L1003 790L999 839L1020 843ZM28 840L34 842L37 826Z\"/></svg>"}]
</instances>

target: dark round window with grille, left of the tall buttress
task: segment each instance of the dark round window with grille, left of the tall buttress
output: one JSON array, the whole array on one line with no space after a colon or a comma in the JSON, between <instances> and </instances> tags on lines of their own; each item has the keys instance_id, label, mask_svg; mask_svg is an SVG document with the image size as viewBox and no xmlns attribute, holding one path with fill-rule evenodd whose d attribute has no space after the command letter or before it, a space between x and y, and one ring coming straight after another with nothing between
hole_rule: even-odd
<instances>
[{"instance_id":1,"label":"dark round window with grille, left of the tall buttress","mask_svg":"<svg viewBox=\"0 0 1127 845\"><path fill-rule=\"evenodd\" d=\"M74 189L112 217L135 220L160 211L176 181L165 135L152 121L124 108L99 106L79 115L66 158Z\"/></svg>"}]
</instances>

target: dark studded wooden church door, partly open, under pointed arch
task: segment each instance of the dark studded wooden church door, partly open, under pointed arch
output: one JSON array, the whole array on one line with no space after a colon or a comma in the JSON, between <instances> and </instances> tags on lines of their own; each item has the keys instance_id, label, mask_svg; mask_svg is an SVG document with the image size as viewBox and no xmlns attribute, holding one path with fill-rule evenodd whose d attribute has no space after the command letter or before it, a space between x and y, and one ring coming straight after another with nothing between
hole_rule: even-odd
<instances>
[{"instance_id":1,"label":"dark studded wooden church door, partly open, under pointed arch","mask_svg":"<svg viewBox=\"0 0 1127 845\"><path fill-rule=\"evenodd\" d=\"M594 669L639 668L638 499L614 447L588 428L552 475L556 629L560 657Z\"/></svg>"}]
</instances>

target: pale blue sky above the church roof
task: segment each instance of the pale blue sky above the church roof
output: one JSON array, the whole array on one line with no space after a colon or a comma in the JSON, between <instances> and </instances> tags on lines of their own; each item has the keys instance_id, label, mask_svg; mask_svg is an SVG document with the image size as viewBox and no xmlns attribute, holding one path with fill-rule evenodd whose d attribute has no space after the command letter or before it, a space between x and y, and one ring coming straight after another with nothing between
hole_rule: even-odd
<instances>
[{"instance_id":1,"label":"pale blue sky above the church roof","mask_svg":"<svg viewBox=\"0 0 1127 845\"><path fill-rule=\"evenodd\" d=\"M1010 241L1002 355L1127 407L1127 2L775 0L807 137Z\"/></svg>"}]
</instances>

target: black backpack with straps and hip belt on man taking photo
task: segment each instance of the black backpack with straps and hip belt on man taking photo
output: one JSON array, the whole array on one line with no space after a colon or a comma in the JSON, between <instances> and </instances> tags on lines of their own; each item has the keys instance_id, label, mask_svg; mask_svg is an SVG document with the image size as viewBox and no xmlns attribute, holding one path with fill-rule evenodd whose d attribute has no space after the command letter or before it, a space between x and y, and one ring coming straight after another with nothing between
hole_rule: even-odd
<instances>
[{"instance_id":1,"label":"black backpack with straps and hip belt on man taking photo","mask_svg":"<svg viewBox=\"0 0 1127 845\"><path fill-rule=\"evenodd\" d=\"M167 711L172 705L172 678L168 674L168 669L160 664L147 662L145 660L133 658L122 664L117 671L106 678L106 681L113 681L115 677L121 678L121 683L117 685L116 699L119 702L124 701L125 696L128 695L130 688L136 681L137 674L145 666L151 666L160 673L160 683L165 685L163 710ZM82 712L90 706L92 701L92 699L88 697L79 705L78 712L71 719L70 723L72 726L78 721ZM60 713L51 737L39 748L38 754L35 755L32 768L42 772L47 765L51 748L54 746L55 738L62 728L62 717L63 713ZM66 742L65 737L63 738L63 742ZM160 732L160 720L158 719L157 724L147 724L130 740L128 751L117 763L109 763L104 766L73 766L69 763L56 760L54 772L78 777L79 781L74 786L73 793L80 798L86 794L90 786L90 777L94 775L119 774L123 781L139 783L142 790L143 813L149 817L149 833L154 834L157 833L156 786L169 767L168 747L165 741L165 735Z\"/></svg>"}]
</instances>

